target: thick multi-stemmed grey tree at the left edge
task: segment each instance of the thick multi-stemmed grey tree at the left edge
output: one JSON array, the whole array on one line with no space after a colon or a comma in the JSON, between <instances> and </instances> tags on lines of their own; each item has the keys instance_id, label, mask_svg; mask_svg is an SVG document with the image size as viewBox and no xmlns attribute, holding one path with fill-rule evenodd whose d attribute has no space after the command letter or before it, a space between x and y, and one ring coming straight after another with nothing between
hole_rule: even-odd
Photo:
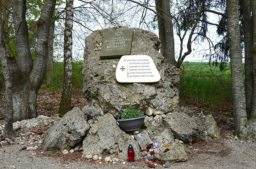
<instances>
[{"instance_id":1,"label":"thick multi-stemmed grey tree at the left edge","mask_svg":"<svg viewBox=\"0 0 256 169\"><path fill-rule=\"evenodd\" d=\"M26 1L9 1L13 9L17 61L10 50L8 37L0 24L0 59L5 79L5 101L0 98L0 110L5 120L4 137L14 137L12 122L37 116L36 97L43 83L49 27L56 0L45 0L41 16L37 20L37 45L34 61L29 48ZM2 16L2 15L1 15Z\"/></svg>"}]
</instances>

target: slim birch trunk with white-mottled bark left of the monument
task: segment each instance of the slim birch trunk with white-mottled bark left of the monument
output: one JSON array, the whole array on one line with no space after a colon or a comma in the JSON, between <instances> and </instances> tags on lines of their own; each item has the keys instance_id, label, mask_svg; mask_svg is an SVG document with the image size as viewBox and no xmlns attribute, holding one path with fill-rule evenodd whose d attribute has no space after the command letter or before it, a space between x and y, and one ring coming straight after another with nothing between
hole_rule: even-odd
<instances>
[{"instance_id":1,"label":"slim birch trunk with white-mottled bark left of the monument","mask_svg":"<svg viewBox=\"0 0 256 169\"><path fill-rule=\"evenodd\" d=\"M64 84L58 114L64 115L71 110L72 95L72 27L73 0L66 0L66 22L64 30Z\"/></svg>"}]
</instances>

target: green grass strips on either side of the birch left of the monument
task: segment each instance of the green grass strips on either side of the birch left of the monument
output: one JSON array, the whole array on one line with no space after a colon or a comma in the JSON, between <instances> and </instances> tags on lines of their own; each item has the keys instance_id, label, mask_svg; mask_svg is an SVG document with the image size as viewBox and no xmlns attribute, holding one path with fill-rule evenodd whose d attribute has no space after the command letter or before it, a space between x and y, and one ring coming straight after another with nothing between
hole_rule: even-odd
<instances>
[{"instance_id":1,"label":"green grass strips on either side of the birch left of the monument","mask_svg":"<svg viewBox=\"0 0 256 169\"><path fill-rule=\"evenodd\" d=\"M73 88L82 88L83 87L83 75L82 75L82 64L83 62L73 62L72 64L72 80L73 80ZM50 84L46 84L46 77L45 75L45 82L42 87L46 87L49 90L61 90L63 86L63 72L64 70L64 63L63 62L54 62L54 71L51 77Z\"/></svg>"}]
</instances>

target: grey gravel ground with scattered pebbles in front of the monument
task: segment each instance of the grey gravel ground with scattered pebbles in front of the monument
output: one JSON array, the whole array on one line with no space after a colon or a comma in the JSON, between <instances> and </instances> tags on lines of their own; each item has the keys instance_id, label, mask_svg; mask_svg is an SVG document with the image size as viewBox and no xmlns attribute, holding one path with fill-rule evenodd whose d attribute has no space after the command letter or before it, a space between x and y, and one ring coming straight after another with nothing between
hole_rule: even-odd
<instances>
[{"instance_id":1,"label":"grey gravel ground with scattered pebbles in front of the monument","mask_svg":"<svg viewBox=\"0 0 256 169\"><path fill-rule=\"evenodd\" d=\"M1 133L3 125L0 121L0 169L141 169L148 168L144 159L134 163L117 161L115 164L106 163L104 157L100 163L81 158L82 151L68 153L45 151L44 131L58 121L59 117L39 116L37 119L14 123L17 133L15 140L3 140ZM2 121L3 122L3 121ZM48 125L47 125L48 123ZM256 143L235 139L231 123L221 124L221 136L218 141L194 142L189 148L188 160L172 163L172 169L205 169L205 168L256 168ZM230 128L230 127L229 127ZM29 129L29 131L26 131ZM26 150L34 147L35 150ZM123 164L125 162L125 164ZM164 166L157 164L156 169Z\"/></svg>"}]
</instances>

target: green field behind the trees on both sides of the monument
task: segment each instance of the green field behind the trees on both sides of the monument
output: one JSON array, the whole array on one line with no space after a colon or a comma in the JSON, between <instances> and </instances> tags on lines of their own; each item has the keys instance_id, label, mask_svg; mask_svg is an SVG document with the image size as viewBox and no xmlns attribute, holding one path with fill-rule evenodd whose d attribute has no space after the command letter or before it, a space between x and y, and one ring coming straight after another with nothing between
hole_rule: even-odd
<instances>
[{"instance_id":1,"label":"green field behind the trees on both sides of the monument","mask_svg":"<svg viewBox=\"0 0 256 169\"><path fill-rule=\"evenodd\" d=\"M73 62L73 87L83 88L83 62ZM210 111L223 111L231 107L230 65L223 71L208 62L184 62L180 76L180 100L187 105L204 107ZM212 70L212 71L211 71ZM54 75L51 84L43 88L61 91L63 86L63 62L54 63ZM228 110L229 111L229 110Z\"/></svg>"}]
</instances>

